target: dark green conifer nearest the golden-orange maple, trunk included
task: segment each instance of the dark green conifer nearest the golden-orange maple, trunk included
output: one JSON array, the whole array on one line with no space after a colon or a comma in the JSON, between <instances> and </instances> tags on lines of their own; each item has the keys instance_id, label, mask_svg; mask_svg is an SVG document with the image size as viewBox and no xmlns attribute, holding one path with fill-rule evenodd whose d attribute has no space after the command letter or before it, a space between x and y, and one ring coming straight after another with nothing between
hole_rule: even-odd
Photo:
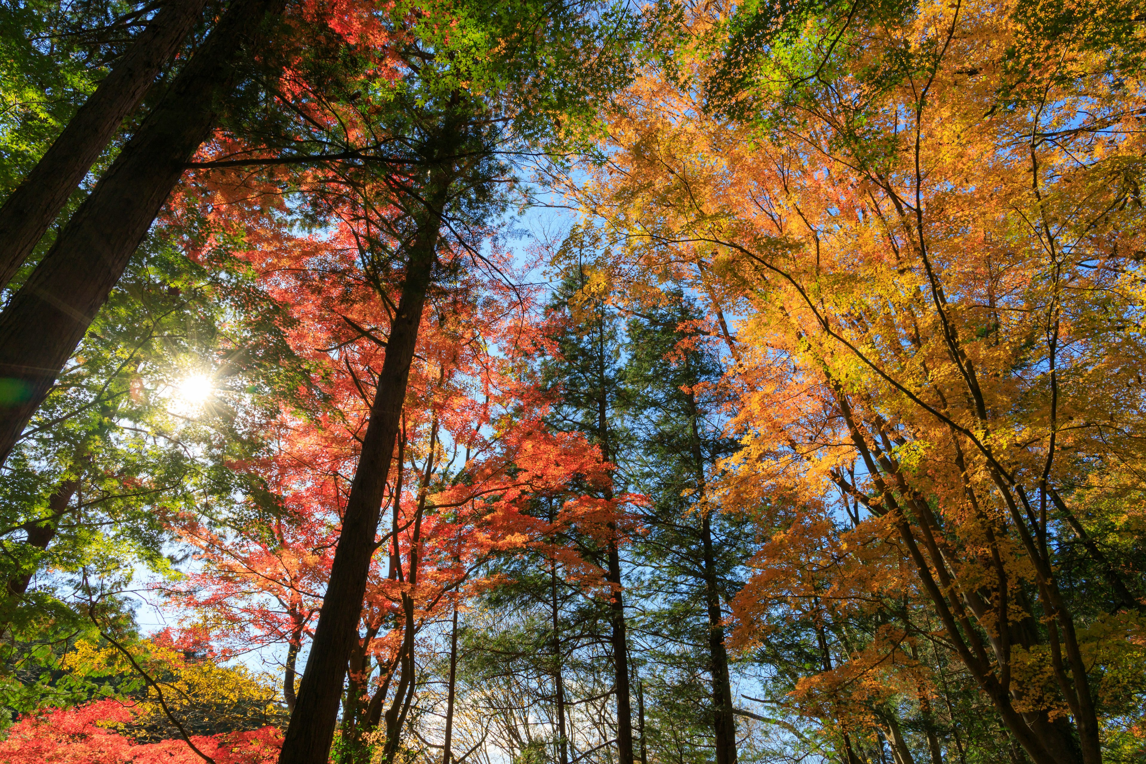
<instances>
[{"instance_id":1,"label":"dark green conifer nearest the golden-orange maple, trunk included","mask_svg":"<svg viewBox=\"0 0 1146 764\"><path fill-rule=\"evenodd\" d=\"M643 494L656 497L643 518L647 533L636 545L644 562L641 567L650 570L646 585L658 592L646 606L652 612L645 619L658 636L680 633L670 639L675 645L669 649L650 649L649 659L668 668L680 652L676 660L688 665L693 653L686 645L707 645L700 663L700 670L709 675L712 698L712 719L706 726L713 734L717 764L735 764L724 616L725 602L740 585L738 568L751 557L751 548L741 541L743 528L731 513L702 502L693 504L694 497L704 496L714 464L736 449L723 436L719 386L723 370L704 316L682 293L670 292L665 300L665 305L635 306L641 313L626 326L621 408L634 443L618 460ZM702 624L698 624L701 612ZM696 675L690 668L682 667L689 678ZM685 692L673 685L662 691L669 698Z\"/></svg>"}]
</instances>

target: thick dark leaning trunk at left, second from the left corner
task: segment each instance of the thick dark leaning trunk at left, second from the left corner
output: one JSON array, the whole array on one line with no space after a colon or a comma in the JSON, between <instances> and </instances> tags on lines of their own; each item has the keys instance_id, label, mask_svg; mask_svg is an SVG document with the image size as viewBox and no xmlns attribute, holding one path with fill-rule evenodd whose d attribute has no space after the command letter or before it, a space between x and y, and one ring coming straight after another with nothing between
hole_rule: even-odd
<instances>
[{"instance_id":1,"label":"thick dark leaning trunk at left, second from the left corner","mask_svg":"<svg viewBox=\"0 0 1146 764\"><path fill-rule=\"evenodd\" d=\"M210 135L238 54L258 47L264 19L284 5L236 0L0 315L0 377L21 388L0 407L0 464Z\"/></svg>"}]
</instances>

